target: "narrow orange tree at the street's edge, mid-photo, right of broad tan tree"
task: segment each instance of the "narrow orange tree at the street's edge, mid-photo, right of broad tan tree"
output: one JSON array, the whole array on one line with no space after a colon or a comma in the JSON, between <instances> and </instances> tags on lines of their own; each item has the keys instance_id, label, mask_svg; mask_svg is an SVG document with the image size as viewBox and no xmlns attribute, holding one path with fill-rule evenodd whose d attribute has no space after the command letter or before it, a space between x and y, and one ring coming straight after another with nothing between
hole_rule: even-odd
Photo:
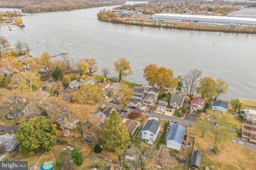
<instances>
[{"instance_id":1,"label":"narrow orange tree at the street's edge, mid-photo, right of broad tan tree","mask_svg":"<svg viewBox=\"0 0 256 170\"><path fill-rule=\"evenodd\" d=\"M133 90L129 88L127 85L122 85L122 89L118 91L117 96L120 97L120 106L124 108L130 105L131 100L133 99Z\"/></svg>"}]
</instances>

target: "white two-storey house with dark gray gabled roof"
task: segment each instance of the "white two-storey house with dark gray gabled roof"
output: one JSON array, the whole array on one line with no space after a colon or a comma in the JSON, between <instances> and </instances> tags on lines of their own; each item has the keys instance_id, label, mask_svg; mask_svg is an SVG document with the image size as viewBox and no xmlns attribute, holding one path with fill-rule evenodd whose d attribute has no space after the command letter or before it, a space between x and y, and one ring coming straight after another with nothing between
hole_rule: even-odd
<instances>
[{"instance_id":1,"label":"white two-storey house with dark gray gabled roof","mask_svg":"<svg viewBox=\"0 0 256 170\"><path fill-rule=\"evenodd\" d=\"M138 137L143 140L154 142L160 131L161 123L156 119L148 119L145 125L142 127Z\"/></svg>"}]
</instances>

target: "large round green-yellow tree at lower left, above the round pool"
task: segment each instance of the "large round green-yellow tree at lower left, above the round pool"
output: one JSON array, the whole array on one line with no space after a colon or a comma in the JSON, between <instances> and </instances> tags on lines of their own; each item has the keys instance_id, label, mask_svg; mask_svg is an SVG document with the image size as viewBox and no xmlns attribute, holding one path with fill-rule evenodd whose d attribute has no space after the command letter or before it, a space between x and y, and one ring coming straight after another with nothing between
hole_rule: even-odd
<instances>
[{"instance_id":1,"label":"large round green-yellow tree at lower left, above the round pool","mask_svg":"<svg viewBox=\"0 0 256 170\"><path fill-rule=\"evenodd\" d=\"M28 156L39 150L52 149L57 139L51 120L44 116L30 118L25 121L20 126L16 138L20 144L19 151Z\"/></svg>"}]
</instances>

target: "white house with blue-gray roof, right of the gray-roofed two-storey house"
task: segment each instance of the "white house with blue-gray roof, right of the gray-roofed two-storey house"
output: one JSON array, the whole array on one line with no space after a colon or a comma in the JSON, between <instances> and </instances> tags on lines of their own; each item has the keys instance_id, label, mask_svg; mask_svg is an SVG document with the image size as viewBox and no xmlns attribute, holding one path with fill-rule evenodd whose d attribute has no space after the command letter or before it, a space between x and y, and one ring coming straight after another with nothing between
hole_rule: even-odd
<instances>
[{"instance_id":1,"label":"white house with blue-gray roof, right of the gray-roofed two-storey house","mask_svg":"<svg viewBox=\"0 0 256 170\"><path fill-rule=\"evenodd\" d=\"M180 124L172 125L166 138L166 147L180 150L185 132L186 128L184 126Z\"/></svg>"}]
</instances>

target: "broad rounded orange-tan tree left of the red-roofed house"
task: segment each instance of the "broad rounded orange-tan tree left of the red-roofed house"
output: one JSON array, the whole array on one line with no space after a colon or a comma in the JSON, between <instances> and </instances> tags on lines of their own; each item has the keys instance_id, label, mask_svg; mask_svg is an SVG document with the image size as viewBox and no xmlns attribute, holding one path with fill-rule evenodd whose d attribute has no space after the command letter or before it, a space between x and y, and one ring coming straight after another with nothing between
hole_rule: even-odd
<instances>
[{"instance_id":1,"label":"broad rounded orange-tan tree left of the red-roofed house","mask_svg":"<svg viewBox=\"0 0 256 170\"><path fill-rule=\"evenodd\" d=\"M80 89L75 92L75 99L80 104L88 104L94 106L94 110L99 104L105 101L103 98L104 90L98 88L96 84L86 83L80 86Z\"/></svg>"}]
</instances>

